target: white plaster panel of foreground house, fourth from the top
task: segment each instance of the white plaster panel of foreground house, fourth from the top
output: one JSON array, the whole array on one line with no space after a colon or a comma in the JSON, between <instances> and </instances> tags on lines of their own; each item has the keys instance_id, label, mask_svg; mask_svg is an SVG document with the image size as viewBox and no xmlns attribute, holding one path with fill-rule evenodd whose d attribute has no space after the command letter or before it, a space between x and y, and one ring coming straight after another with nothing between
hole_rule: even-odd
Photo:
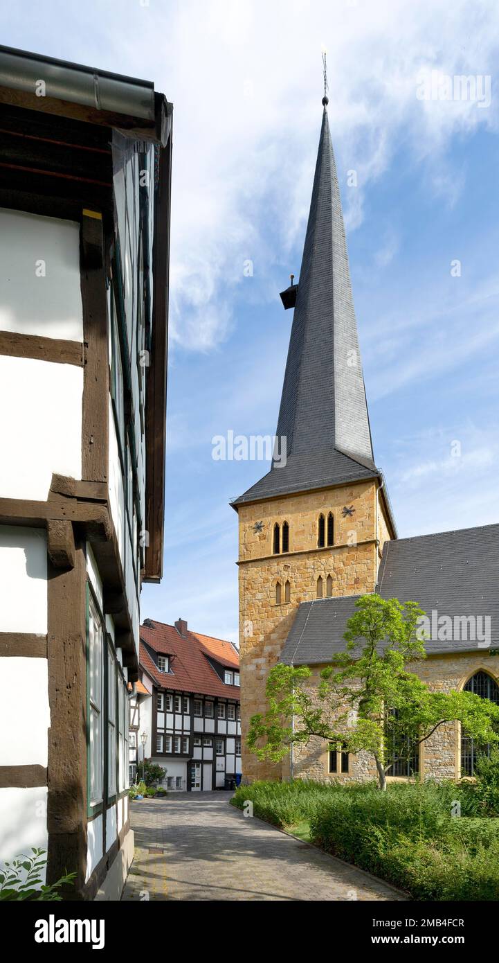
<instances>
[{"instance_id":1,"label":"white plaster panel of foreground house, fourth from the top","mask_svg":"<svg viewBox=\"0 0 499 963\"><path fill-rule=\"evenodd\" d=\"M47 665L46 659L2 659L0 766L47 765Z\"/></svg>"}]
</instances>

